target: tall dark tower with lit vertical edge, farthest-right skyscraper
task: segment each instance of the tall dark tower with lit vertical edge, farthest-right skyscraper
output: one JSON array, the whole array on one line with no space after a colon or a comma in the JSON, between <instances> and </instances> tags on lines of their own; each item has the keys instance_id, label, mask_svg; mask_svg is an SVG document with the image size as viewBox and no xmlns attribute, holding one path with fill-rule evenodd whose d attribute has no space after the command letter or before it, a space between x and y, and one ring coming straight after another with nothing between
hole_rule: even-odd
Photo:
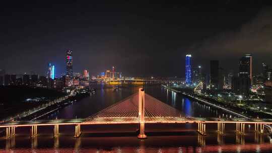
<instances>
[{"instance_id":1,"label":"tall dark tower with lit vertical edge, farthest-right skyscraper","mask_svg":"<svg viewBox=\"0 0 272 153\"><path fill-rule=\"evenodd\" d=\"M239 62L239 77L249 77L250 85L253 84L252 78L252 56L251 54L246 54L240 58Z\"/></svg>"}]
</instances>

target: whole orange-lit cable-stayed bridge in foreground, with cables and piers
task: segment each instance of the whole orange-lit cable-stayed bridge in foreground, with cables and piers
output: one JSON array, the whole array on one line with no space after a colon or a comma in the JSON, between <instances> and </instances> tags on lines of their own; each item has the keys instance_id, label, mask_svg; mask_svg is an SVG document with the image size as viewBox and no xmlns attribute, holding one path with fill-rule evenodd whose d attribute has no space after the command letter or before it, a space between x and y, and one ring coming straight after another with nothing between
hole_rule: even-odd
<instances>
[{"instance_id":1,"label":"whole orange-lit cable-stayed bridge in foreground, with cables and piers","mask_svg":"<svg viewBox=\"0 0 272 153\"><path fill-rule=\"evenodd\" d=\"M218 125L218 132L225 133L225 124L236 124L239 134L245 133L245 124L254 124L254 130L264 133L264 127L272 124L272 119L246 119L246 118L199 118L183 116L181 112L154 97L145 94L143 89L139 93L109 106L86 119L57 119L40 121L13 121L0 124L0 128L6 128L6 138L15 135L16 127L31 127L30 135L34 137L38 133L38 126L54 126L54 137L58 136L59 126L75 125L75 137L80 137L81 126L97 124L139 124L139 138L146 138L145 124L197 124L197 132L206 135L206 123ZM265 126L264 126L265 125ZM269 127L269 126L268 126Z\"/></svg>"}]
</instances>

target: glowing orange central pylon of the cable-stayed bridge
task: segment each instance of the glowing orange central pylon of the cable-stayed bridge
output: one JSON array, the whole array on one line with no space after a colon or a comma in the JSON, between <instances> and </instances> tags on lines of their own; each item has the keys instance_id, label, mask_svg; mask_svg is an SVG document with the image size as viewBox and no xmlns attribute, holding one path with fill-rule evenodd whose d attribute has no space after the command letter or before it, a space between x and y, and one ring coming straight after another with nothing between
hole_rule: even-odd
<instances>
[{"instance_id":1,"label":"glowing orange central pylon of the cable-stayed bridge","mask_svg":"<svg viewBox=\"0 0 272 153\"><path fill-rule=\"evenodd\" d=\"M138 138L147 138L145 134L145 90L139 89L139 118L140 118L140 134Z\"/></svg>"}]
</instances>

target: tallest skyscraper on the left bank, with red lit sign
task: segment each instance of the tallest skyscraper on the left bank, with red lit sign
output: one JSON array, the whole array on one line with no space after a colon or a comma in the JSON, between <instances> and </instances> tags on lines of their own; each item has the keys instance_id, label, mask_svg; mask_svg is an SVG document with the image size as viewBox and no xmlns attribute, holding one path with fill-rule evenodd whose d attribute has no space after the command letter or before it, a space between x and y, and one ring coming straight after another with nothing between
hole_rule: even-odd
<instances>
[{"instance_id":1,"label":"tallest skyscraper on the left bank, with red lit sign","mask_svg":"<svg viewBox=\"0 0 272 153\"><path fill-rule=\"evenodd\" d=\"M73 85L73 51L66 51L66 76L69 78L68 86Z\"/></svg>"}]
</instances>

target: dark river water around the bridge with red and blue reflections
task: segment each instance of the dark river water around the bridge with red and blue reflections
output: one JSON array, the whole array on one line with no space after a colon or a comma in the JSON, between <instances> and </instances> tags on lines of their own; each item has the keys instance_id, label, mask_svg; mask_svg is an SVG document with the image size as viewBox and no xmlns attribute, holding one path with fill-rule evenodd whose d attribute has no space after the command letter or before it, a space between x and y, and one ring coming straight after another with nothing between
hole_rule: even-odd
<instances>
[{"instance_id":1,"label":"dark river water around the bridge with red and blue reflections","mask_svg":"<svg viewBox=\"0 0 272 153\"><path fill-rule=\"evenodd\" d=\"M138 88L100 89L92 97L67 106L44 119L86 118L138 91ZM146 93L174 106L186 116L234 117L209 106L193 102L161 88L145 87ZM147 139L137 138L138 125L82 126L80 138L73 138L74 126L60 126L53 138L53 127L39 127L38 136L29 137L29 127L16 128L11 139L0 138L0 152L272 152L272 139L246 125L246 134L235 133L234 124L226 124L226 134L217 134L217 125L207 124L207 136L198 135L194 124L147 124ZM167 131L167 132L166 132Z\"/></svg>"}]
</instances>

